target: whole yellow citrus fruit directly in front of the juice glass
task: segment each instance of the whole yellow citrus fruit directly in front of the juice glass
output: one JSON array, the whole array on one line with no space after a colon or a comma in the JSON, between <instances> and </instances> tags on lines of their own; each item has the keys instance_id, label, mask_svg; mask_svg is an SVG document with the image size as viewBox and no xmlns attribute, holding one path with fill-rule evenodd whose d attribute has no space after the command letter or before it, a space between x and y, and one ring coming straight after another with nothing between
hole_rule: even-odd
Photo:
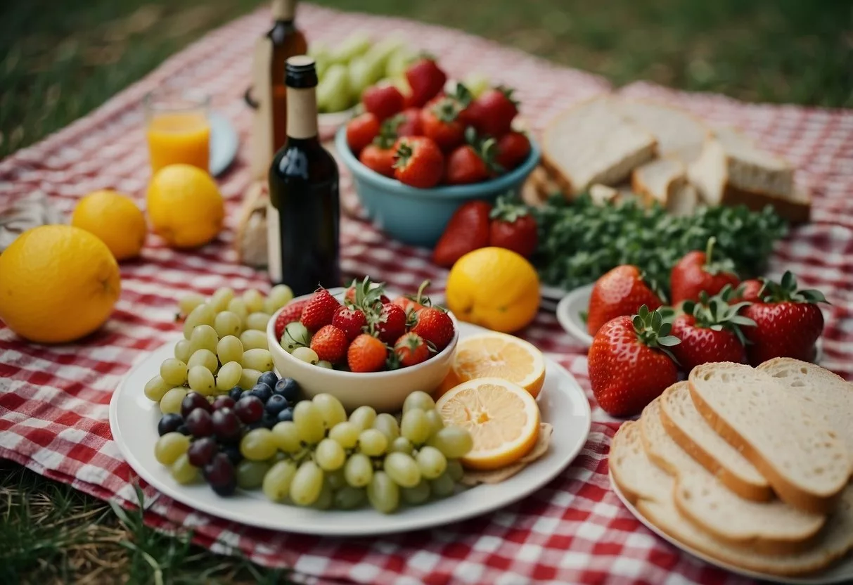
<instances>
[{"instance_id":1,"label":"whole yellow citrus fruit directly in front of the juice glass","mask_svg":"<svg viewBox=\"0 0 853 585\"><path fill-rule=\"evenodd\" d=\"M216 182L192 165L168 165L148 183L148 219L169 246L206 244L222 229L225 207Z\"/></svg>"}]
</instances>

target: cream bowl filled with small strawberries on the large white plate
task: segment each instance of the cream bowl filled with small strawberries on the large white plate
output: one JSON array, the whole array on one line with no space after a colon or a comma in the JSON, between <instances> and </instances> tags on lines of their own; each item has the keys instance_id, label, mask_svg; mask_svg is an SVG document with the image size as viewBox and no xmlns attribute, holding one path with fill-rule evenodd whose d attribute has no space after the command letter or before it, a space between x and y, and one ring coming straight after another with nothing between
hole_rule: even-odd
<instances>
[{"instance_id":1,"label":"cream bowl filled with small strawberries on the large white plate","mask_svg":"<svg viewBox=\"0 0 853 585\"><path fill-rule=\"evenodd\" d=\"M347 410L399 411L412 392L441 384L459 339L456 318L432 306L424 287L391 299L365 278L294 298L267 326L276 369L306 397L327 392Z\"/></svg>"}]
</instances>

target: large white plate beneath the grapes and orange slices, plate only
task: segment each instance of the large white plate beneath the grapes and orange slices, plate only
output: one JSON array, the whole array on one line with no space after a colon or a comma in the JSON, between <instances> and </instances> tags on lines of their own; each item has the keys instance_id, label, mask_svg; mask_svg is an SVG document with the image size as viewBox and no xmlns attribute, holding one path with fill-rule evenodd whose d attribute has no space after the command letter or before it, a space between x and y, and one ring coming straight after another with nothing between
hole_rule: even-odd
<instances>
[{"instance_id":1,"label":"large white plate beneath the grapes and orange slices, plate only","mask_svg":"<svg viewBox=\"0 0 853 585\"><path fill-rule=\"evenodd\" d=\"M483 331L460 324L460 339ZM423 506L384 515L369 507L354 511L321 511L268 501L259 490L238 491L223 498L205 484L177 484L168 469L154 460L160 409L143 394L145 383L172 356L173 341L151 352L122 379L110 402L110 429L125 460L148 484L201 512L270 530L318 536L373 536L421 530L489 513L519 501L548 484L583 448L592 417L580 385L565 368L545 358L545 385L538 403L542 420L554 426L548 453L501 484L479 485Z\"/></svg>"}]
</instances>

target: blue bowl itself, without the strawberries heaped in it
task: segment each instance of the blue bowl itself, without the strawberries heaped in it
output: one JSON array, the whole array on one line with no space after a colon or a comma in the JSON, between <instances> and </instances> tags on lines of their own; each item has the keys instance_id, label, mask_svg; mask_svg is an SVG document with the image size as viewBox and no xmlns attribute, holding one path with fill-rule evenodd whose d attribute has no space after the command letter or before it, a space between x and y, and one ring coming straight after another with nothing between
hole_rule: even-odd
<instances>
[{"instance_id":1,"label":"blue bowl itself, without the strawberries heaped in it","mask_svg":"<svg viewBox=\"0 0 853 585\"><path fill-rule=\"evenodd\" d=\"M368 217L395 240L413 246L435 246L450 216L466 201L491 202L500 194L518 193L539 162L539 148L531 140L530 155L506 175L473 185L419 189L384 177L362 165L346 144L345 126L339 128L334 144L344 165L352 173L358 198Z\"/></svg>"}]
</instances>

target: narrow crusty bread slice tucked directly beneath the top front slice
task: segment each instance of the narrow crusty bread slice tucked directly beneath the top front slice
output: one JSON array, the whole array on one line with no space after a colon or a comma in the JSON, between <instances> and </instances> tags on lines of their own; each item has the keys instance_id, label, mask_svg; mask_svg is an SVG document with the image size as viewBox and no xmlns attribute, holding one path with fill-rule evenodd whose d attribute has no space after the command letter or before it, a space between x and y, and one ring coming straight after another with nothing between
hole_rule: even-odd
<instances>
[{"instance_id":1,"label":"narrow crusty bread slice tucked directly beneath the top front slice","mask_svg":"<svg viewBox=\"0 0 853 585\"><path fill-rule=\"evenodd\" d=\"M767 479L738 449L717 435L696 410L687 382L671 385L664 391L660 397L660 418L678 446L735 494L752 501L774 498Z\"/></svg>"}]
</instances>

